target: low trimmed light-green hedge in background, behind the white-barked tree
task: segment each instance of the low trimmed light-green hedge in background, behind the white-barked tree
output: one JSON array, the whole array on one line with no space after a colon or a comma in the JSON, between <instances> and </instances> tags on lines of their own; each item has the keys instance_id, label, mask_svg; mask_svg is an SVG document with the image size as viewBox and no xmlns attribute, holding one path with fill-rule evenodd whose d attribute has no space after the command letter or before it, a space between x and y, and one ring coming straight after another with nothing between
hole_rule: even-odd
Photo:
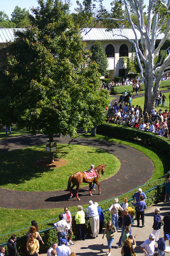
<instances>
[{"instance_id":1,"label":"low trimmed light-green hedge in background, behind the white-barked tree","mask_svg":"<svg viewBox=\"0 0 170 256\"><path fill-rule=\"evenodd\" d=\"M165 87L170 87L170 80L160 82L160 88L165 88ZM127 92L133 92L132 84L113 87L113 88L111 88L111 94L117 95L117 94L125 92L125 90L127 90ZM141 90L142 91L145 90L144 84L141 84Z\"/></svg>"}]
</instances>

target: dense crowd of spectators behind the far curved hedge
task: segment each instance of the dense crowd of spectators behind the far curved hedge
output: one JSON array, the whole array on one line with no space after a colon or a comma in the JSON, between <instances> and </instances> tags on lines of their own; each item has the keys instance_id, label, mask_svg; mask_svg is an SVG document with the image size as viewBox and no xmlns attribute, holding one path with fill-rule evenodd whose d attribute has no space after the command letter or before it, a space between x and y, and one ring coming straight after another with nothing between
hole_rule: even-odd
<instances>
[{"instance_id":1,"label":"dense crowd of spectators behind the far curved hedge","mask_svg":"<svg viewBox=\"0 0 170 256\"><path fill-rule=\"evenodd\" d=\"M169 138L170 132L170 109L155 109L152 108L151 113L147 111L143 112L141 106L134 105L128 106L122 104L118 106L118 103L108 109L107 121L118 125L127 125L134 129L141 131L148 131L157 134L158 136L165 136Z\"/></svg>"}]
</instances>

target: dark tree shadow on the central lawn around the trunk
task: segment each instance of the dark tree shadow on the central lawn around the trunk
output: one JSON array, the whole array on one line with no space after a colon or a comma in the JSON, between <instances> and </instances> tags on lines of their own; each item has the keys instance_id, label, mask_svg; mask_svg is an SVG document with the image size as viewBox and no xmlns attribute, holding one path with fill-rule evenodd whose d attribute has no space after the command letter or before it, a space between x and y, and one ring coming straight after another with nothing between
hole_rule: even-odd
<instances>
[{"instance_id":1,"label":"dark tree shadow on the central lawn around the trunk","mask_svg":"<svg viewBox=\"0 0 170 256\"><path fill-rule=\"evenodd\" d=\"M62 145L57 149L60 158L66 157L68 153L64 150L64 147ZM38 160L44 158L49 158L49 153L45 151L45 148L41 148L41 150L26 148L24 150L14 150L8 152L8 154L1 154L0 186L10 183L22 184L26 180L41 177L44 172L50 171L49 168L38 166Z\"/></svg>"}]
</instances>

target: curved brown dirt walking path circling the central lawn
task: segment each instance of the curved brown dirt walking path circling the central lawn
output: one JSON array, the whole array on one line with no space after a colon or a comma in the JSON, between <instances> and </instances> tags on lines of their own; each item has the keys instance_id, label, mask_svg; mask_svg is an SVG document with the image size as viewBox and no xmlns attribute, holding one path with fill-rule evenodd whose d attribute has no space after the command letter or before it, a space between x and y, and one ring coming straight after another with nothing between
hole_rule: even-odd
<instances>
[{"instance_id":1,"label":"curved brown dirt walking path circling the central lawn","mask_svg":"<svg viewBox=\"0 0 170 256\"><path fill-rule=\"evenodd\" d=\"M34 136L34 138L32 138L32 136L28 135L20 137L21 139L24 137L24 143L20 140L20 147L17 147L17 149L30 147L32 144L41 145L46 141L46 136ZM15 138L12 140L13 147L12 145L11 147L8 145L8 150L13 150L15 148L15 141L17 143L18 139L19 138ZM1 143L1 153L7 151L6 148L1 150L3 148L3 143L5 144L6 142L2 141ZM93 191L93 196L89 196L87 187L80 188L79 197L81 201L78 201L75 197L68 200L69 192L64 190L25 192L0 188L1 207L9 209L53 209L63 207L64 205L67 205L68 207L80 204L85 205L89 203L89 200L101 202L141 186L152 177L154 172L154 165L148 157L138 150L126 145L87 138L71 139L69 136L57 138L57 143L87 145L108 150L108 153L113 154L120 161L120 169L109 179L100 182L101 195L98 194L97 187L96 191Z\"/></svg>"}]
</instances>

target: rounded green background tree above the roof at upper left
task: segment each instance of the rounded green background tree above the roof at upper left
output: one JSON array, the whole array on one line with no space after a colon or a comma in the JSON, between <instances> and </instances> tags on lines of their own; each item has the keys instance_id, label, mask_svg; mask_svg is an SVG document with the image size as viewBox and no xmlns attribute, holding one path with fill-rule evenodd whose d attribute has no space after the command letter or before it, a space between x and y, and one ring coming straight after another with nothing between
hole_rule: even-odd
<instances>
[{"instance_id":1,"label":"rounded green background tree above the roof at upper left","mask_svg":"<svg viewBox=\"0 0 170 256\"><path fill-rule=\"evenodd\" d=\"M15 23L15 28L24 28L30 26L29 11L26 8L22 9L18 5L11 13L11 22Z\"/></svg>"}]
</instances>

